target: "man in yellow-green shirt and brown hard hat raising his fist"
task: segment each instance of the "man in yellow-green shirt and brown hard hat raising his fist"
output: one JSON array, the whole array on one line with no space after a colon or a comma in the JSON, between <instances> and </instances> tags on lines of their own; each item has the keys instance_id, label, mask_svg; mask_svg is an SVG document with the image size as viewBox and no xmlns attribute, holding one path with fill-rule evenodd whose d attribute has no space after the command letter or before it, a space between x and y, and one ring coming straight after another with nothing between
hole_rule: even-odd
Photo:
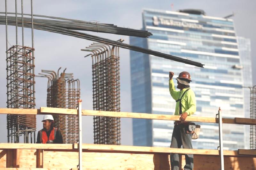
<instances>
[{"instance_id":1,"label":"man in yellow-green shirt and brown hard hat raising his fist","mask_svg":"<svg viewBox=\"0 0 256 170\"><path fill-rule=\"evenodd\" d=\"M179 74L177 80L177 88L180 91L176 91L173 83L173 72L169 72L169 91L174 100L176 100L176 107L174 115L180 115L180 121L174 122L174 128L172 132L171 148L180 148L181 145L185 149L192 148L192 134L188 133L187 125L185 122L187 116L190 116L196 112L196 99L195 93L190 89L189 83L191 82L190 74L186 71L182 71ZM170 154L171 169L179 170L179 155L177 153ZM193 154L185 154L186 165L184 170L193 169Z\"/></svg>"}]
</instances>

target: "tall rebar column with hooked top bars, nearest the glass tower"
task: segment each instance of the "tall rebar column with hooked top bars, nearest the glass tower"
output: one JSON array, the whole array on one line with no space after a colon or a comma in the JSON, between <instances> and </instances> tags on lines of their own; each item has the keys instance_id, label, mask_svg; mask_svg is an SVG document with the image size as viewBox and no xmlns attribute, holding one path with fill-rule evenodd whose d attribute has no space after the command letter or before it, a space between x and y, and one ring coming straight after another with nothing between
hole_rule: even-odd
<instances>
[{"instance_id":1,"label":"tall rebar column with hooked top bars, nearest the glass tower","mask_svg":"<svg viewBox=\"0 0 256 170\"><path fill-rule=\"evenodd\" d=\"M92 52L93 109L120 112L119 48L101 43L86 48ZM93 126L94 144L120 144L120 118L94 116Z\"/></svg>"}]
</instances>

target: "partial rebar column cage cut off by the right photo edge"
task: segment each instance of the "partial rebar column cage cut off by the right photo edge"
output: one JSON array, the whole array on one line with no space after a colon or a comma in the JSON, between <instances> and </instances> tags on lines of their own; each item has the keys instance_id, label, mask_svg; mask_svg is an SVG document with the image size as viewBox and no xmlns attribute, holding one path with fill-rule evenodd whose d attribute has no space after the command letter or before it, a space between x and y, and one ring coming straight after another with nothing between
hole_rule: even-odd
<instances>
[{"instance_id":1,"label":"partial rebar column cage cut off by the right photo edge","mask_svg":"<svg viewBox=\"0 0 256 170\"><path fill-rule=\"evenodd\" d=\"M256 85L249 87L251 90L250 118L256 119ZM256 126L250 125L250 148L256 149Z\"/></svg>"}]
</instances>

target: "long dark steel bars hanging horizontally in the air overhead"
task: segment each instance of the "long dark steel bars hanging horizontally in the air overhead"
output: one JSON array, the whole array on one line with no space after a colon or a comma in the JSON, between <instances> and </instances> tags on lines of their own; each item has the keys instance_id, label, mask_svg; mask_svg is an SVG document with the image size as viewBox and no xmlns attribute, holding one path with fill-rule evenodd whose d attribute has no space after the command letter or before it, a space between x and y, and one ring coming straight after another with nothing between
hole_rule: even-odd
<instances>
[{"instance_id":1,"label":"long dark steel bars hanging horizontally in the air overhead","mask_svg":"<svg viewBox=\"0 0 256 170\"><path fill-rule=\"evenodd\" d=\"M49 17L49 16L40 16L40 15L35 15L35 16L65 20L65 21L60 21L60 22L55 21L55 20L48 20L48 21L42 20L42 19L35 20L36 22L35 23L33 22L33 26L35 29L38 29L38 30L48 31L48 32L52 32L52 33L60 33L63 35L73 36L73 37L82 38L82 39L86 39L86 40L90 40L90 41L96 41L99 43L104 43L104 44L108 44L108 45L112 45L112 46L116 46L116 47L130 49L133 51L138 51L138 52L149 54L149 55L155 55L155 56L158 56L161 58L166 58L169 60L194 65L197 67L204 67L204 64L199 63L199 62L191 61L191 60L188 60L185 58L180 58L180 57L176 57L176 56L169 55L169 54L164 54L164 53L153 51L153 50L146 49L146 48L132 46L132 45L125 44L122 42L109 40L106 38L78 32L75 30L86 30L86 31L103 32L103 33L115 33L115 34L120 34L120 35L129 35L129 36L138 36L138 37L148 37L149 35L151 35L151 33L148 33L145 31L143 32L141 30L116 27L116 26L113 26L110 24L99 24L97 22L92 24L90 22L74 20L74 19L67 19L67 18ZM67 23L67 20L71 21L71 22ZM42 23L41 23L41 21L42 21ZM20 21L19 18L14 20L14 18L12 18L12 17L4 18L4 16L0 16L0 24L5 24L5 23L8 23L8 25L16 24L18 26L21 26L21 24L22 24L22 22ZM31 21L26 20L26 22L24 22L24 27L31 28L32 27L31 23L32 23Z\"/></svg>"}]
</instances>

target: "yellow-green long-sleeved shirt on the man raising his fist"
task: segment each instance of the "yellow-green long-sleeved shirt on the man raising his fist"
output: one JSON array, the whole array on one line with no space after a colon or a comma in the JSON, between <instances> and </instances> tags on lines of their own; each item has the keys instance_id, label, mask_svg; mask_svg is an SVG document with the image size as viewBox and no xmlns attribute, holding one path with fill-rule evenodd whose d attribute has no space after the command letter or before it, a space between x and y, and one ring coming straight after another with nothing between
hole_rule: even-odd
<instances>
[{"instance_id":1,"label":"yellow-green long-sleeved shirt on the man raising his fist","mask_svg":"<svg viewBox=\"0 0 256 170\"><path fill-rule=\"evenodd\" d=\"M180 91L176 91L174 87L173 80L169 80L169 91L174 100L179 100L182 96L182 94L187 90L188 88L184 88ZM189 89L184 96L182 97L181 101L181 111L182 113L188 113L188 116L194 114L196 112L196 97L195 93ZM180 110L180 101L176 102L175 107L175 113L174 115L180 115L182 113L179 113Z\"/></svg>"}]
</instances>

